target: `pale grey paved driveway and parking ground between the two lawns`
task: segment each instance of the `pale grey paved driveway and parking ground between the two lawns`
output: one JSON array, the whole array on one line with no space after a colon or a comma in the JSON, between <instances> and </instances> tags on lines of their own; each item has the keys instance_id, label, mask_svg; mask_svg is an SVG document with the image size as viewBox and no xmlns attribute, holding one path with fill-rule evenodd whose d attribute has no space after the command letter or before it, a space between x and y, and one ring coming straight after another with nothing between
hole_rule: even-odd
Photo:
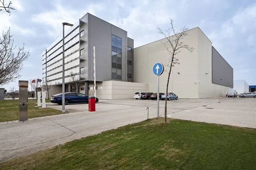
<instances>
[{"instance_id":1,"label":"pale grey paved driveway and parking ground between the two lawns","mask_svg":"<svg viewBox=\"0 0 256 170\"><path fill-rule=\"evenodd\" d=\"M237 108L218 116L218 113L223 113L226 109L232 109L239 101L241 101L241 105L239 104ZM243 109L239 109L239 107L242 105L250 105L250 113L244 115L250 115L250 119L253 116L256 117L255 102L255 99L224 97L221 98L221 103L218 103L217 98L180 99L168 101L167 106L169 117L172 118L204 122L205 119L201 119L201 117L209 111L205 117L213 116L214 118L212 119L216 120L213 123L220 123L223 120L223 116L226 116L225 119L229 119L230 116L233 117L233 122L239 121L241 115L238 116L238 113L243 113ZM157 116L156 104L156 100L100 100L96 104L96 112L88 112L87 104L75 104L66 105L66 109L75 109L74 111L79 110L80 112L33 118L25 122L0 122L0 161L28 155L58 144L64 144L75 139L143 121L147 118L146 107L150 108L149 118L154 118ZM204 105L214 109L205 109ZM60 107L61 109L61 105L54 105L53 107ZM215 115L211 113L214 110L216 111ZM230 114L232 112L233 114ZM164 101L160 101L160 115L163 115L163 113ZM249 121L248 119L241 120L245 122L245 126L246 121ZM225 124L225 122L222 123ZM233 125L232 122L231 125ZM247 127L255 127L255 119L253 118L247 125Z\"/></svg>"}]
</instances>

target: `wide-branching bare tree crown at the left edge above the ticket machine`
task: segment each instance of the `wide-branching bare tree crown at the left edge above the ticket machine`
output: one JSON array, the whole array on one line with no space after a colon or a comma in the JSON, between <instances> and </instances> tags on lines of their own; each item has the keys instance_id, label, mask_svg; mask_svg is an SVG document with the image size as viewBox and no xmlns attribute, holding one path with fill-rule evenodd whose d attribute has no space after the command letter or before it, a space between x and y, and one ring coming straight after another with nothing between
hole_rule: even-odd
<instances>
[{"instance_id":1,"label":"wide-branching bare tree crown at the left edge above the ticket machine","mask_svg":"<svg viewBox=\"0 0 256 170\"><path fill-rule=\"evenodd\" d=\"M7 32L3 31L3 36L0 37L0 85L20 78L23 61L29 57L29 51L25 50L24 44L22 48L15 50L12 36L9 29Z\"/></svg>"}]
</instances>

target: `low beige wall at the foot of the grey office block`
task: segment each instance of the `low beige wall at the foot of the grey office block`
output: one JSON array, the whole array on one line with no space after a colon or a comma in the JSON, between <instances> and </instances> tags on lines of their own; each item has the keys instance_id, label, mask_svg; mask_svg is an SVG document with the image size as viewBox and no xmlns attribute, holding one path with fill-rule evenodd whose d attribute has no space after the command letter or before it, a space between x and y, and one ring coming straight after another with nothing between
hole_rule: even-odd
<instances>
[{"instance_id":1,"label":"low beige wall at the foot of the grey office block","mask_svg":"<svg viewBox=\"0 0 256 170\"><path fill-rule=\"evenodd\" d=\"M146 83L106 81L96 82L96 86L101 87L96 90L96 97L99 99L133 99L137 91L148 91ZM89 87L93 87L93 83L90 83ZM89 96L93 95L94 91L89 90Z\"/></svg>"}]
</instances>

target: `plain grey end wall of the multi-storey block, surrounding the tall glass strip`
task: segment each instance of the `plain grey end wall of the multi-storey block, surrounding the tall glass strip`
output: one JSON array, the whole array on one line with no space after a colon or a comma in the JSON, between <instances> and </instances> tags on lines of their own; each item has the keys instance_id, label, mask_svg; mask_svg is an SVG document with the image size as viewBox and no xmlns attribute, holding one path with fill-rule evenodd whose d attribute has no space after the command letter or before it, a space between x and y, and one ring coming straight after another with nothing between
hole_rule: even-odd
<instances>
[{"instance_id":1,"label":"plain grey end wall of the multi-storey block, surrounding the tall glass strip","mask_svg":"<svg viewBox=\"0 0 256 170\"><path fill-rule=\"evenodd\" d=\"M88 80L93 81L93 46L96 48L96 81L111 80L111 34L122 38L122 81L127 80L127 32L88 14Z\"/></svg>"}]
</instances>

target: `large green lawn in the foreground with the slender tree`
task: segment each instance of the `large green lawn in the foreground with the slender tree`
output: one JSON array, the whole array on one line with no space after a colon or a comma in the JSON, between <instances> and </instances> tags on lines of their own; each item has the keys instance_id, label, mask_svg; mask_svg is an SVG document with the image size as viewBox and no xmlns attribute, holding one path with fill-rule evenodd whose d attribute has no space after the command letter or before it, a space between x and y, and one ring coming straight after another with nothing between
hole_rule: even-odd
<instances>
[{"instance_id":1,"label":"large green lawn in the foreground with the slender tree","mask_svg":"<svg viewBox=\"0 0 256 170\"><path fill-rule=\"evenodd\" d=\"M255 170L256 129L150 119L0 163L0 169Z\"/></svg>"}]
</instances>

